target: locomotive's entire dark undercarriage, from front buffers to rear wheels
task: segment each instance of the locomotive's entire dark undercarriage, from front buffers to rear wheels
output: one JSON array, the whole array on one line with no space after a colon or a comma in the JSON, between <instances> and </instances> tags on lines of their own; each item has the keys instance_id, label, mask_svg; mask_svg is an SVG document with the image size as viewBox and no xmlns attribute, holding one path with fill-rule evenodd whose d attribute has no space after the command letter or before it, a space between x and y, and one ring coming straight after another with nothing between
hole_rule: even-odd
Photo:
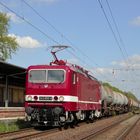
<instances>
[{"instance_id":1,"label":"locomotive's entire dark undercarriage, from front buffers to rear wheels","mask_svg":"<svg viewBox=\"0 0 140 140\"><path fill-rule=\"evenodd\" d=\"M27 121L32 126L56 126L71 127L77 126L79 121L93 122L95 118L101 116L101 112L96 111L64 111L62 107L33 108L27 107Z\"/></svg>"}]
</instances>

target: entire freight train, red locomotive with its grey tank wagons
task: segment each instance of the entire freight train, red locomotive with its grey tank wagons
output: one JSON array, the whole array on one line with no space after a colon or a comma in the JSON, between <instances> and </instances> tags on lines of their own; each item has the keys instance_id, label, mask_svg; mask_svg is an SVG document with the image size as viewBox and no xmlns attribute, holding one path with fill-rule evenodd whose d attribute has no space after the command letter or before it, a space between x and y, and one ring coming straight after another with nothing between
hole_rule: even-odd
<instances>
[{"instance_id":1,"label":"entire freight train, red locomotive with its grey tank wagons","mask_svg":"<svg viewBox=\"0 0 140 140\"><path fill-rule=\"evenodd\" d=\"M65 126L80 120L128 112L138 103L103 86L82 67L56 57L50 65L30 66L25 111L32 125Z\"/></svg>"}]
</instances>

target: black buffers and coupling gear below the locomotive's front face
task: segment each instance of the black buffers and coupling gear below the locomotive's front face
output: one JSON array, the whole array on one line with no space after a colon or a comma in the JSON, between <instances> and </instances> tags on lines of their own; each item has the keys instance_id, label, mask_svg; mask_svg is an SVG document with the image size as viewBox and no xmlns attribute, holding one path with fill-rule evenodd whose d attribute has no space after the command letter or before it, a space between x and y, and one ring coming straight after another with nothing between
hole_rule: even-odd
<instances>
[{"instance_id":1,"label":"black buffers and coupling gear below the locomotive's front face","mask_svg":"<svg viewBox=\"0 0 140 140\"><path fill-rule=\"evenodd\" d=\"M28 107L30 108L30 107ZM28 109L29 110L29 109ZM27 120L31 122L33 126L46 125L46 126L61 126L67 121L73 121L73 118L67 112L64 113L62 107L41 107L32 108L31 111L27 111ZM68 116L69 115L69 116Z\"/></svg>"}]
</instances>

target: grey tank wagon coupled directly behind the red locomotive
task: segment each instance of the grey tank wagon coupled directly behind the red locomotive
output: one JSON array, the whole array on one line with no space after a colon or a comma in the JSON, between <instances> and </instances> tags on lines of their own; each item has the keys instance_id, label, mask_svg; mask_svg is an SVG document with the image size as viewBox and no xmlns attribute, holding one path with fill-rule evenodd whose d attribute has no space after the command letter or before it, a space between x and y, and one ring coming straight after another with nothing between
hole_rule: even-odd
<instances>
[{"instance_id":1,"label":"grey tank wagon coupled directly behind the red locomotive","mask_svg":"<svg viewBox=\"0 0 140 140\"><path fill-rule=\"evenodd\" d=\"M101 85L102 115L112 115L128 112L128 98Z\"/></svg>"}]
</instances>

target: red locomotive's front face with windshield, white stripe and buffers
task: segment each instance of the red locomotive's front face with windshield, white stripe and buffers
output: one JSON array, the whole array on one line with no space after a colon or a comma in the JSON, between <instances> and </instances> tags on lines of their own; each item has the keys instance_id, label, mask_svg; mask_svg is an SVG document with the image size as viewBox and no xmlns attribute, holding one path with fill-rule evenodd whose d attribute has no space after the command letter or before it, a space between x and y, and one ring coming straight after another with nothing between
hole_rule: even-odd
<instances>
[{"instance_id":1,"label":"red locomotive's front face with windshield, white stripe and buffers","mask_svg":"<svg viewBox=\"0 0 140 140\"><path fill-rule=\"evenodd\" d=\"M25 111L32 125L60 126L66 121L69 73L65 66L28 68Z\"/></svg>"}]
</instances>

